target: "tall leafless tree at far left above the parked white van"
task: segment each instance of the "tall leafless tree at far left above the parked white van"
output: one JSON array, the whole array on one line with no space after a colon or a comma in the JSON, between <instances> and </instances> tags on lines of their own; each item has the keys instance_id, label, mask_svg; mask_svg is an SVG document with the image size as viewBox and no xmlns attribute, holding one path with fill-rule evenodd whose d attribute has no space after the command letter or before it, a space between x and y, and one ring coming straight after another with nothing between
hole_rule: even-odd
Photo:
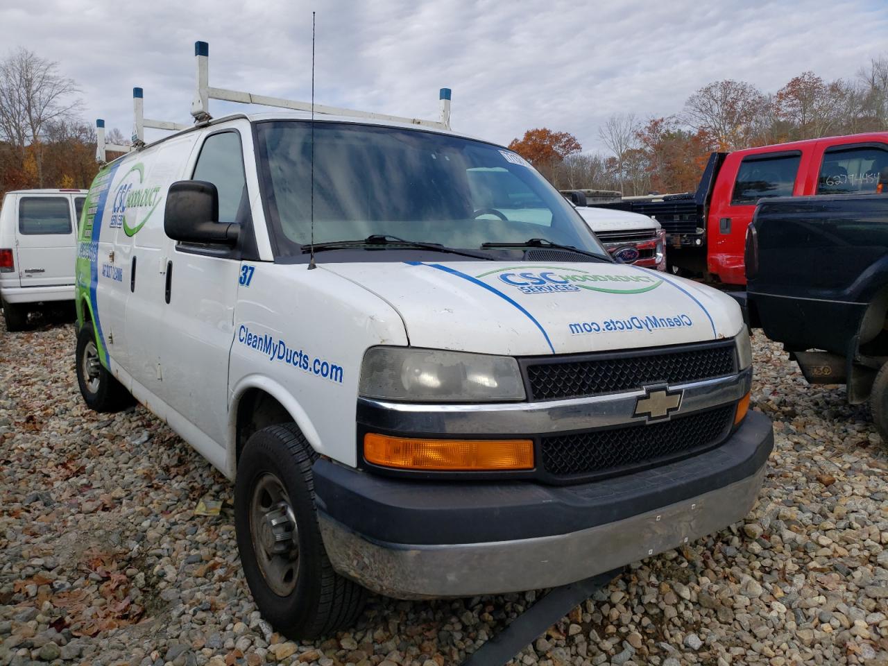
<instances>
[{"instance_id":1,"label":"tall leafless tree at far left above the parked white van","mask_svg":"<svg viewBox=\"0 0 888 666\"><path fill-rule=\"evenodd\" d=\"M58 63L28 49L0 60L0 139L19 151L26 170L33 160L39 187L44 186L44 131L79 107L76 92L74 81L59 73Z\"/></svg>"}]
</instances>

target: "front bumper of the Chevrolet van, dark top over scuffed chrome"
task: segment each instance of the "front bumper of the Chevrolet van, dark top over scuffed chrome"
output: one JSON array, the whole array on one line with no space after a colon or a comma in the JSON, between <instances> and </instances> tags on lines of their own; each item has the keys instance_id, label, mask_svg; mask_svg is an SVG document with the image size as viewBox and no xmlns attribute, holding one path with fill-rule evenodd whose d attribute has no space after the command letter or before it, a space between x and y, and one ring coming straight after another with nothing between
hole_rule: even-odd
<instances>
[{"instance_id":1,"label":"front bumper of the Chevrolet van, dark top over scuffed chrome","mask_svg":"<svg viewBox=\"0 0 888 666\"><path fill-rule=\"evenodd\" d=\"M750 412L717 448L591 483L402 480L321 459L314 488L337 572L400 599L464 597L572 583L731 525L772 448Z\"/></svg>"}]
</instances>

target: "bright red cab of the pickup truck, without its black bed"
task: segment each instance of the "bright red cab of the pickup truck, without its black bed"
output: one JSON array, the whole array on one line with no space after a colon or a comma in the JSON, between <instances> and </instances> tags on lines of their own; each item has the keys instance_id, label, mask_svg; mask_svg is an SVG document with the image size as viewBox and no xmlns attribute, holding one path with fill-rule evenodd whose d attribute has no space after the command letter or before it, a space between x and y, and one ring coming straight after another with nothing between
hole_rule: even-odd
<instances>
[{"instance_id":1,"label":"bright red cab of the pickup truck, without its black bed","mask_svg":"<svg viewBox=\"0 0 888 666\"><path fill-rule=\"evenodd\" d=\"M725 156L706 220L706 264L725 284L746 284L746 229L759 199L816 194L875 194L888 167L888 132L737 150Z\"/></svg>"}]
</instances>

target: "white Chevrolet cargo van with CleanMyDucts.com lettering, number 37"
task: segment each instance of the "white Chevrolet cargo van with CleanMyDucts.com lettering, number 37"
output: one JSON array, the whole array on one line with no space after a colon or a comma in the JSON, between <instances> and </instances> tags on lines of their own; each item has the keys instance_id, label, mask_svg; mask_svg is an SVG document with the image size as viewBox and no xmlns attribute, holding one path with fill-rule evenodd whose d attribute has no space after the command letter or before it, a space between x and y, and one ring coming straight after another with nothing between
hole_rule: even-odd
<instances>
[{"instance_id":1,"label":"white Chevrolet cargo van with CleanMyDucts.com lettering, number 37","mask_svg":"<svg viewBox=\"0 0 888 666\"><path fill-rule=\"evenodd\" d=\"M524 159L446 129L204 119L108 163L77 379L234 480L291 638L365 591L570 583L741 519L773 447L738 305L614 263Z\"/></svg>"}]
</instances>

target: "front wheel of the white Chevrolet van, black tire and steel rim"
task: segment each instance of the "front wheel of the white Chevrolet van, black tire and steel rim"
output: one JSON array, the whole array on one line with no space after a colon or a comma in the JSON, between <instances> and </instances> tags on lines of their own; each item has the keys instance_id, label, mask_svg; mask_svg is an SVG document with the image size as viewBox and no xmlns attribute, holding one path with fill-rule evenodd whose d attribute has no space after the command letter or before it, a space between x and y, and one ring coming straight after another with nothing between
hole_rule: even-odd
<instances>
[{"instance_id":1,"label":"front wheel of the white Chevrolet van, black tire and steel rim","mask_svg":"<svg viewBox=\"0 0 888 666\"><path fill-rule=\"evenodd\" d=\"M314 507L317 458L296 424L254 432L234 482L234 525L243 573L259 611L288 638L352 626L367 591L327 558Z\"/></svg>"}]
</instances>

